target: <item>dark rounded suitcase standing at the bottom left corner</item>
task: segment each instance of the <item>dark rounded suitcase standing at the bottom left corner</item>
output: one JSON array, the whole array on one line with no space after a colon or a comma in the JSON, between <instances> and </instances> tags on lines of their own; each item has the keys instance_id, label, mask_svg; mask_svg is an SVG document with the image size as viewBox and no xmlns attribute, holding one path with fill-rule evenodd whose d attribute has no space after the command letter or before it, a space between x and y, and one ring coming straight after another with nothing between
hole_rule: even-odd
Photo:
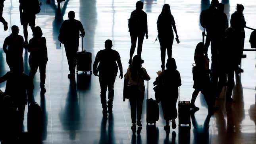
<instances>
[{"instance_id":1,"label":"dark rounded suitcase standing at the bottom left corner","mask_svg":"<svg viewBox=\"0 0 256 144\"><path fill-rule=\"evenodd\" d=\"M42 124L42 109L37 102L31 102L27 113L27 131L33 139L31 141L41 140Z\"/></svg>"}]
</instances>

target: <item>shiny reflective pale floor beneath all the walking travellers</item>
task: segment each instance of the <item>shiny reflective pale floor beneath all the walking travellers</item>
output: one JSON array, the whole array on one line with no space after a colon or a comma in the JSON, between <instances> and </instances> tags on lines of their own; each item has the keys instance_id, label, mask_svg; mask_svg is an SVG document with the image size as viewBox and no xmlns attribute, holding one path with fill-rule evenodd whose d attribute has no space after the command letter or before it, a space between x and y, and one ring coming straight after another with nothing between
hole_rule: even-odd
<instances>
[{"instance_id":1,"label":"shiny reflective pale floor beneath all the walking travellers","mask_svg":"<svg viewBox=\"0 0 256 144\"><path fill-rule=\"evenodd\" d=\"M244 52L247 58L243 59L244 73L235 77L233 98L235 104L225 103L220 99L217 104L219 111L212 117L207 117L207 106L200 94L196 100L196 106L200 110L192 115L192 127L181 127L171 130L166 134L163 127L163 119L160 105L160 119L156 127L146 127L146 96L142 112L142 130L133 134L128 101L122 101L123 80L115 81L115 97L113 114L108 116L108 121L102 120L102 108L100 104L100 86L98 78L79 73L76 84L73 85L67 79L68 66L65 50L58 42L58 30L67 19L67 12L75 11L76 19L79 19L85 27L85 49L92 52L92 61L98 50L104 48L104 41L111 39L114 42L113 49L121 56L124 73L128 66L130 37L128 33L128 21L130 13L135 9L136 0L66 0L57 7L57 3L43 3L41 12L37 15L36 25L42 28L47 40L48 57L46 71L47 92L40 96L39 73L35 77L35 101L38 102L44 114L44 144L255 144L256 143L256 107L255 107L255 52ZM220 0L225 4L225 13L228 19L235 12L239 0ZM173 44L173 58L181 73L181 100L190 100L192 88L192 63L194 48L202 40L202 27L199 23L200 11L206 9L209 0L145 0L144 11L148 15L148 36L144 39L142 58L145 60L143 67L148 71L149 96L154 96L153 81L156 71L160 70L160 46L158 41L154 43L158 35L156 29L157 17L164 3L171 6L171 12L175 18L180 44ZM20 35L23 28L19 22L18 0L6 0L4 6L4 18L8 26L18 25ZM246 25L255 27L256 2L246 0L244 5L244 17ZM245 48L249 49L248 39L250 30L246 29ZM11 31L3 31L0 25L0 45ZM29 38L32 37L29 30ZM6 56L0 49L0 75L9 71L6 64ZM209 52L210 53L210 52ZM29 73L28 53L24 52L25 73ZM5 83L0 84L4 90ZM224 90L224 89L223 89ZM221 96L223 98L223 96ZM27 108L26 108L27 111ZM26 112L25 112L26 113ZM27 131L27 115L25 115L24 127Z\"/></svg>"}]
</instances>

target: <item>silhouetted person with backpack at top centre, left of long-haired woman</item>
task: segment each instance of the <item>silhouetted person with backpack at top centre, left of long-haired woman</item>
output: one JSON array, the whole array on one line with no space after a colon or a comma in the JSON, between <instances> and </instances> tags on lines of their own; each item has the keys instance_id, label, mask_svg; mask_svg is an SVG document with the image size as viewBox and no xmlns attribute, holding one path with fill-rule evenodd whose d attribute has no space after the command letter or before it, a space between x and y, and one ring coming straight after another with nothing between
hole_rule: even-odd
<instances>
[{"instance_id":1,"label":"silhouetted person with backpack at top centre, left of long-haired woman","mask_svg":"<svg viewBox=\"0 0 256 144\"><path fill-rule=\"evenodd\" d=\"M129 19L129 32L131 36L131 50L130 50L130 59L129 64L133 58L133 54L136 48L137 38L138 38L138 49L137 54L141 56L142 44L144 36L146 34L146 39L148 39L148 21L147 14L142 10L143 2L138 1L136 3L136 10L131 12L131 17Z\"/></svg>"}]
</instances>

